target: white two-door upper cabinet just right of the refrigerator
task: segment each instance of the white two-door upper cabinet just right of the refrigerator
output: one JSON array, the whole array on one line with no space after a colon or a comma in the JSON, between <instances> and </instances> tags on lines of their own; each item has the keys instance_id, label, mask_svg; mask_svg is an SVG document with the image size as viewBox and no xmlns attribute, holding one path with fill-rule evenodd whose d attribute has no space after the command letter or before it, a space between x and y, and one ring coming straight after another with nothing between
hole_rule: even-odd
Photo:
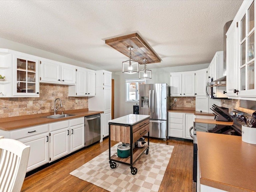
<instances>
[{"instance_id":1,"label":"white two-door upper cabinet just right of the refrigerator","mask_svg":"<svg viewBox=\"0 0 256 192\"><path fill-rule=\"evenodd\" d=\"M195 96L195 72L170 73L171 96Z\"/></svg>"}]
</instances>

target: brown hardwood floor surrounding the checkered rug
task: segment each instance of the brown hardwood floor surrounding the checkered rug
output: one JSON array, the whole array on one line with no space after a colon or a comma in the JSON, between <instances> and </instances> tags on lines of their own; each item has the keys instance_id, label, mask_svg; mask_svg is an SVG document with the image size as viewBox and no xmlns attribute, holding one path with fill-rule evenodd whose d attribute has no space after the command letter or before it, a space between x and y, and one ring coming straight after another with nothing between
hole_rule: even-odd
<instances>
[{"instance_id":1,"label":"brown hardwood floor surrounding the checkered rug","mask_svg":"<svg viewBox=\"0 0 256 192\"><path fill-rule=\"evenodd\" d=\"M150 139L150 142L174 146L159 192L192 192L193 142L178 139ZM107 149L108 138L28 176L22 192L107 192L69 174Z\"/></svg>"}]
</instances>

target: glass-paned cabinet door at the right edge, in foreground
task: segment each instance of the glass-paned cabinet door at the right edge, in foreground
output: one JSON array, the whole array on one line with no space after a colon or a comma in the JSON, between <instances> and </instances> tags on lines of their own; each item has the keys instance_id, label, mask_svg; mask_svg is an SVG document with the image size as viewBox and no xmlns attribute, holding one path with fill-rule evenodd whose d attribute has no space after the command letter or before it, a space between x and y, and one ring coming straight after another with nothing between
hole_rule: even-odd
<instances>
[{"instance_id":1,"label":"glass-paned cabinet door at the right edge, in foreground","mask_svg":"<svg viewBox=\"0 0 256 192\"><path fill-rule=\"evenodd\" d=\"M239 26L239 92L238 96L256 97L255 65L254 65L254 1L248 2L237 22Z\"/></svg>"}]
</instances>

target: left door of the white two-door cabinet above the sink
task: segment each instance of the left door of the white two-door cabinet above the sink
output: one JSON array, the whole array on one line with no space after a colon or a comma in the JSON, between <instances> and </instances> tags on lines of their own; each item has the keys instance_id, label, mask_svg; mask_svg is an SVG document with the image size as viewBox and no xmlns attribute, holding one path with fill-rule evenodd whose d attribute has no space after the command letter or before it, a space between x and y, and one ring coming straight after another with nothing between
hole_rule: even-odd
<instances>
[{"instance_id":1,"label":"left door of the white two-door cabinet above the sink","mask_svg":"<svg viewBox=\"0 0 256 192\"><path fill-rule=\"evenodd\" d=\"M40 63L40 82L60 82L60 65L41 61Z\"/></svg>"}]
</instances>

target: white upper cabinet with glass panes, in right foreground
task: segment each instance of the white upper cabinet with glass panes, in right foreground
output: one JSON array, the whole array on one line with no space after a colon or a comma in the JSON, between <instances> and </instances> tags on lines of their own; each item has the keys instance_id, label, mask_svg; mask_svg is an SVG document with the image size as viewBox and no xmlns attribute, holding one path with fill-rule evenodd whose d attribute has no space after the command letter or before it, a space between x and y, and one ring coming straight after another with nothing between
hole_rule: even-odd
<instances>
[{"instance_id":1,"label":"white upper cabinet with glass panes, in right foreground","mask_svg":"<svg viewBox=\"0 0 256 192\"><path fill-rule=\"evenodd\" d=\"M227 88L230 98L256 100L254 6L253 0L244 1L226 33ZM232 77L232 73L235 77Z\"/></svg>"}]
</instances>

